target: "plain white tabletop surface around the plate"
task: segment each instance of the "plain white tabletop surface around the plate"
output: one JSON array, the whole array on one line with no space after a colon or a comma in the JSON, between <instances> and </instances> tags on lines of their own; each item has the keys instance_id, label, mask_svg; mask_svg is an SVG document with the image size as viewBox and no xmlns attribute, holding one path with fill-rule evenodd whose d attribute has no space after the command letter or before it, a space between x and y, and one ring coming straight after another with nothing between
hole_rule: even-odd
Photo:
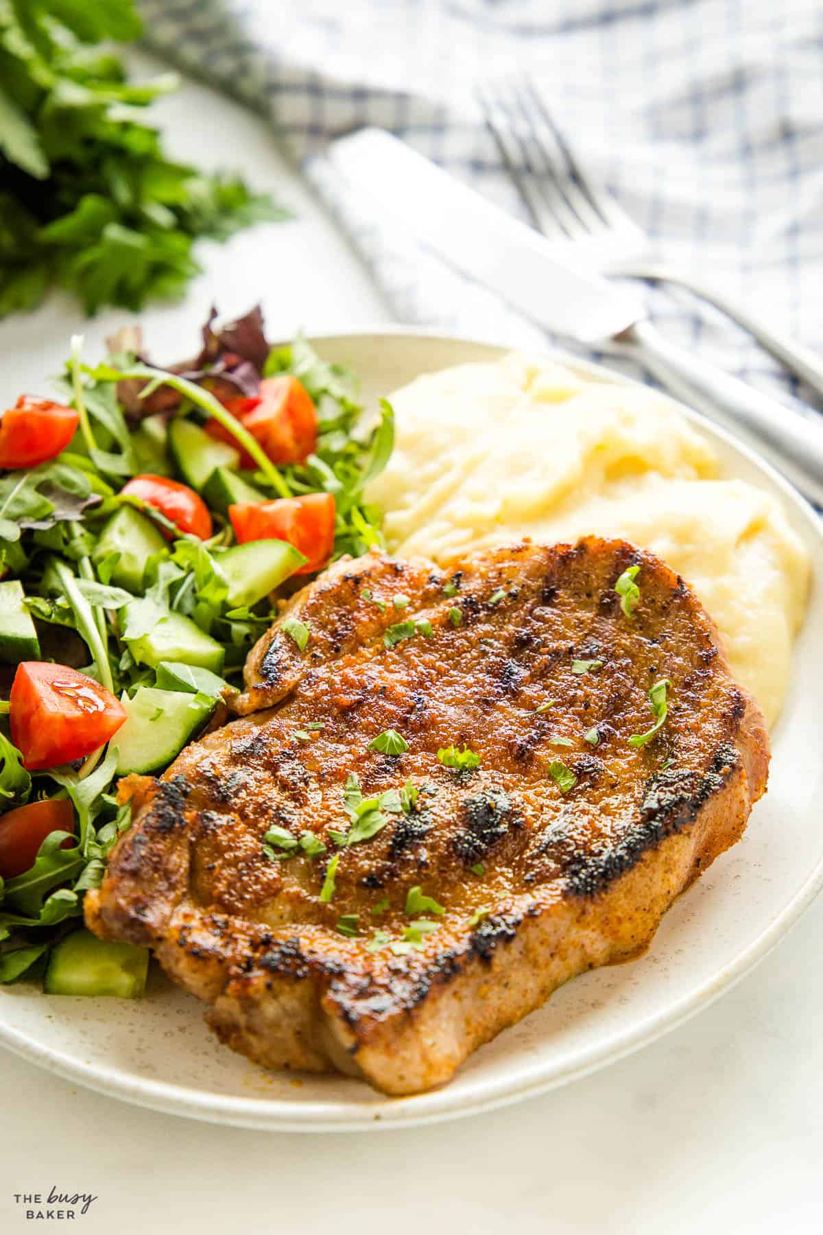
<instances>
[{"instance_id":1,"label":"plain white tabletop surface around the plate","mask_svg":"<svg viewBox=\"0 0 823 1235\"><path fill-rule=\"evenodd\" d=\"M243 170L297 219L201 246L207 273L185 308L143 315L154 354L194 352L212 301L232 315L262 300L270 337L386 320L262 122L194 84L162 114L174 154ZM83 330L95 356L128 320L83 324L56 296L0 324L0 398L48 393L42 377L60 368L70 333ZM218 1128L78 1089L0 1051L0 1231L42 1229L14 1194L52 1186L94 1193L72 1229L106 1235L821 1231L822 940L818 900L754 974L653 1046L542 1098L434 1128Z\"/></svg>"}]
</instances>

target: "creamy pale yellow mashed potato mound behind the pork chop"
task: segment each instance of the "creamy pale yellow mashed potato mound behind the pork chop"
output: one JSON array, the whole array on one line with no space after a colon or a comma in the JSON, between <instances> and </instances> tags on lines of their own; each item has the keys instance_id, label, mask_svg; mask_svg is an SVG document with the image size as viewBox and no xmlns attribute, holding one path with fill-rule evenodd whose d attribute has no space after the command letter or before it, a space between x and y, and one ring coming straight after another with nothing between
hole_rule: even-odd
<instances>
[{"instance_id":1,"label":"creamy pale yellow mashed potato mound behind the pork chop","mask_svg":"<svg viewBox=\"0 0 823 1235\"><path fill-rule=\"evenodd\" d=\"M391 403L395 452L368 493L390 548L444 562L587 532L650 548L693 585L776 720L806 551L772 496L718 478L711 445L659 394L508 356L421 377Z\"/></svg>"}]
</instances>

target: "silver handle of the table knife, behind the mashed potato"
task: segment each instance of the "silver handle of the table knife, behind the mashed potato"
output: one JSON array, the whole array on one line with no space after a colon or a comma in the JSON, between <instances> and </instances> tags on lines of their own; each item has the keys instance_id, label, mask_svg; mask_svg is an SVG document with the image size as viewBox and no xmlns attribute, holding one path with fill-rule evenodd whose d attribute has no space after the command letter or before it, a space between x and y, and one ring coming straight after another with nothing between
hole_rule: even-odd
<instances>
[{"instance_id":1,"label":"silver handle of the table knife, behind the mashed potato","mask_svg":"<svg viewBox=\"0 0 823 1235\"><path fill-rule=\"evenodd\" d=\"M632 356L677 399L760 451L809 501L823 505L823 417L808 419L739 378L670 343L648 321L618 336Z\"/></svg>"}]
</instances>

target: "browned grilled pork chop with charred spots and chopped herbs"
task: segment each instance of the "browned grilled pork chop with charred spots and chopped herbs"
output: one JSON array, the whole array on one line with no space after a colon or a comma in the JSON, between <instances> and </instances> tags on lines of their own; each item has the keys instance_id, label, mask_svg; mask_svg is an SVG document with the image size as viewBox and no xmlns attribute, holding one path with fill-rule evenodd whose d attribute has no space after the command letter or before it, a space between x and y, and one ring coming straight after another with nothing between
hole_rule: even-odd
<instances>
[{"instance_id":1,"label":"browned grilled pork chop with charred spots and chopped herbs","mask_svg":"<svg viewBox=\"0 0 823 1235\"><path fill-rule=\"evenodd\" d=\"M642 952L766 782L711 620L621 541L338 562L246 685L247 715L121 782L134 823L86 921L153 947L249 1058L391 1094Z\"/></svg>"}]
</instances>

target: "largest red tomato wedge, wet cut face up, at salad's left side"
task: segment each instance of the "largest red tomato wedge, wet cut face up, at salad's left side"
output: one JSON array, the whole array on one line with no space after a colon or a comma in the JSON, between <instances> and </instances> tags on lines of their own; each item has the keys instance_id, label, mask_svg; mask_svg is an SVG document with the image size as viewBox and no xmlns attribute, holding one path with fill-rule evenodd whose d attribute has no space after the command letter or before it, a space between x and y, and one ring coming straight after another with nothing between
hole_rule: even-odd
<instances>
[{"instance_id":1,"label":"largest red tomato wedge, wet cut face up, at salad's left side","mask_svg":"<svg viewBox=\"0 0 823 1235\"><path fill-rule=\"evenodd\" d=\"M81 760L126 720L120 699L65 664L22 661L9 694L11 740L30 772Z\"/></svg>"}]
</instances>

